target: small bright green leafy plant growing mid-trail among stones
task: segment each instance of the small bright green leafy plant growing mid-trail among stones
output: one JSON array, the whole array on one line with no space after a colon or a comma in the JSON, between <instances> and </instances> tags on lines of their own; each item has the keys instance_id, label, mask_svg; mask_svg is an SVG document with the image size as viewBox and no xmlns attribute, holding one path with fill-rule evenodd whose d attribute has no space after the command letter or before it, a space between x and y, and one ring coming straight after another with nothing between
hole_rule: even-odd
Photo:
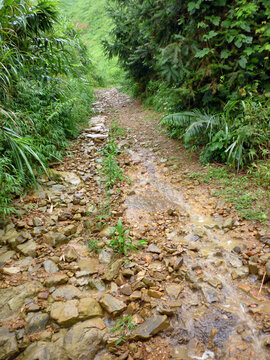
<instances>
[{"instance_id":1,"label":"small bright green leafy plant growing mid-trail among stones","mask_svg":"<svg viewBox=\"0 0 270 360\"><path fill-rule=\"evenodd\" d=\"M129 233L130 229L124 230L122 221L119 219L109 246L120 255L127 255L129 250L137 251L136 246L143 246L147 244L146 241L140 240L136 243L136 246L133 245L132 238L128 235Z\"/></svg>"}]
</instances>

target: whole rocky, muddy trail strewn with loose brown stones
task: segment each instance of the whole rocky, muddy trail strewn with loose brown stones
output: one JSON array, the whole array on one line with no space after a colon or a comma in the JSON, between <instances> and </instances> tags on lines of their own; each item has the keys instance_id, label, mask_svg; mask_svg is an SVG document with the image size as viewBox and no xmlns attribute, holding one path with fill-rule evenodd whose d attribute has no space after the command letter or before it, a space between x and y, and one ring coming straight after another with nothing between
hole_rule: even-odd
<instances>
[{"instance_id":1,"label":"whole rocky, muddy trail strewn with loose brown stones","mask_svg":"<svg viewBox=\"0 0 270 360\"><path fill-rule=\"evenodd\" d=\"M269 236L190 179L200 165L152 111L96 95L70 155L0 224L0 360L269 360ZM112 134L125 178L108 196ZM119 219L138 251L113 251Z\"/></svg>"}]
</instances>

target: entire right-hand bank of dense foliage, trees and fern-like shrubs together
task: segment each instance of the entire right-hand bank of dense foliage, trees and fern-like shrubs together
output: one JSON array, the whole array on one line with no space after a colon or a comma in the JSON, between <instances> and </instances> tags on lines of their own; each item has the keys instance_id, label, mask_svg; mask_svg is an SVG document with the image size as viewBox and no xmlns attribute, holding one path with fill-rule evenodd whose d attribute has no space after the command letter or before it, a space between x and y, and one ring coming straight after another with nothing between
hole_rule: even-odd
<instances>
[{"instance_id":1,"label":"entire right-hand bank of dense foliage, trees and fern-like shrubs together","mask_svg":"<svg viewBox=\"0 0 270 360\"><path fill-rule=\"evenodd\" d=\"M107 53L156 108L185 111L163 120L171 136L238 168L269 155L269 0L109 3Z\"/></svg>"}]
</instances>

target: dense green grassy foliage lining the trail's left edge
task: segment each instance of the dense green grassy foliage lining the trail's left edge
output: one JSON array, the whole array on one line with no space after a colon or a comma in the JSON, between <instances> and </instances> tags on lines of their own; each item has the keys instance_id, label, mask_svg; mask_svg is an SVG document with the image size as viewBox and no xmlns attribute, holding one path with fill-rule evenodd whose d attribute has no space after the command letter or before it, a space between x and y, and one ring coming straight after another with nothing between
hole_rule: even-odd
<instances>
[{"instance_id":1,"label":"dense green grassy foliage lining the trail's left edge","mask_svg":"<svg viewBox=\"0 0 270 360\"><path fill-rule=\"evenodd\" d=\"M91 111L90 68L54 1L1 2L0 213L77 134Z\"/></svg>"}]
</instances>

